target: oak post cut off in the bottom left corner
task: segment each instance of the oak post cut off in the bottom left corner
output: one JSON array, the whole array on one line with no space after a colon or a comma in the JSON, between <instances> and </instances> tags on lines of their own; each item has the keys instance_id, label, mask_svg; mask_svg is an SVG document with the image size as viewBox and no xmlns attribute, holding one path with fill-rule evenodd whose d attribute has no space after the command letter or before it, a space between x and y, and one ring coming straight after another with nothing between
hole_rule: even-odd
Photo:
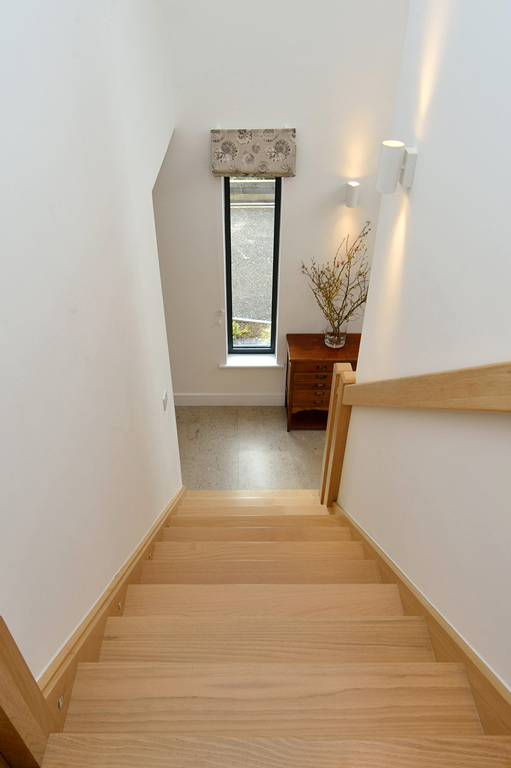
<instances>
[{"instance_id":1,"label":"oak post cut off in the bottom left corner","mask_svg":"<svg viewBox=\"0 0 511 768\"><path fill-rule=\"evenodd\" d=\"M0 766L38 768L56 730L45 697L0 617Z\"/></svg>"}]
</instances>

